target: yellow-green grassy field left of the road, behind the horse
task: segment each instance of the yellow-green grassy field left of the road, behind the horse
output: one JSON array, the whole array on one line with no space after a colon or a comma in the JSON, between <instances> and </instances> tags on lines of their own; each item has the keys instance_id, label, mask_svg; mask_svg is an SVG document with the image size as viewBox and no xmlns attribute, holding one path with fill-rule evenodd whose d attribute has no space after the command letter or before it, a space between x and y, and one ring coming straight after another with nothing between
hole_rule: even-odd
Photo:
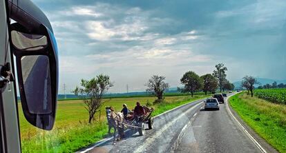
<instances>
[{"instance_id":1,"label":"yellow-green grassy field left of the road, behind the horse","mask_svg":"<svg viewBox=\"0 0 286 153\"><path fill-rule=\"evenodd\" d=\"M155 108L153 115L204 97L206 97L204 94L193 97L166 96L166 103L151 106ZM117 112L120 112L123 103L126 103L128 108L132 110L136 101L140 101L145 105L147 102L153 103L154 100L154 96L104 99L101 113L96 114L95 121L92 124L87 123L88 112L84 109L82 100L59 101L55 128L51 131L39 130L30 125L24 119L21 105L19 105L22 151L75 152L107 136L105 106L111 105Z\"/></svg>"}]
</instances>

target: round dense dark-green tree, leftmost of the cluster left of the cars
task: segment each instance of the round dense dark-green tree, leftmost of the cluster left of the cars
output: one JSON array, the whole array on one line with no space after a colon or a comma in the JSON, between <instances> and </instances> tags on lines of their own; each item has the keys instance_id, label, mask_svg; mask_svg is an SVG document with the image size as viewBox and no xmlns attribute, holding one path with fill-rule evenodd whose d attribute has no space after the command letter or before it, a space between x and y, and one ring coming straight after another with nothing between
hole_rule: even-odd
<instances>
[{"instance_id":1,"label":"round dense dark-green tree, leftmost of the cluster left of the cars","mask_svg":"<svg viewBox=\"0 0 286 153\"><path fill-rule=\"evenodd\" d=\"M180 81L184 85L182 92L191 92L191 96L202 88L202 79L192 71L186 72Z\"/></svg>"}]
</instances>

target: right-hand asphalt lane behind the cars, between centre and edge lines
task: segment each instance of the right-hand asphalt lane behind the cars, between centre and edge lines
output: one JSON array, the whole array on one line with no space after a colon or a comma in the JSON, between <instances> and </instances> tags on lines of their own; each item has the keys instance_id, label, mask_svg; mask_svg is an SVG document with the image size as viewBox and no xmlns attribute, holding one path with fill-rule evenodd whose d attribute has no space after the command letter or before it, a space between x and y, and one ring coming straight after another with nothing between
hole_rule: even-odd
<instances>
[{"instance_id":1,"label":"right-hand asphalt lane behind the cars, between centre and edge lines","mask_svg":"<svg viewBox=\"0 0 286 153\"><path fill-rule=\"evenodd\" d=\"M192 138L192 139L190 139ZM175 152L261 152L227 112L227 104L220 110L198 112L187 127Z\"/></svg>"}]
</instances>

